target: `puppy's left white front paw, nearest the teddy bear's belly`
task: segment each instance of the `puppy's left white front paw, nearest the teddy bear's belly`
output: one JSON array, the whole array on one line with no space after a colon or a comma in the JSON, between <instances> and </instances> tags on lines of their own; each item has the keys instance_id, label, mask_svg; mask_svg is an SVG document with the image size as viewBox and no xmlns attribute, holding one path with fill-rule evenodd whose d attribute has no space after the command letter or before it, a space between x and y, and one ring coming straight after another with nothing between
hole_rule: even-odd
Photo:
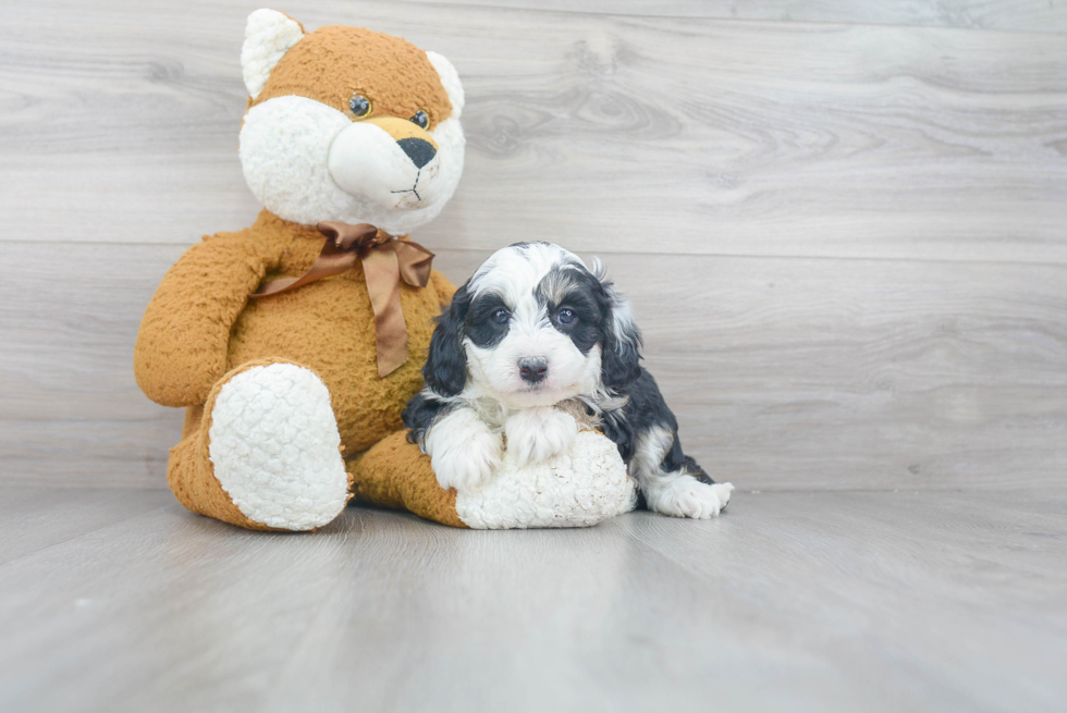
<instances>
[{"instance_id":1,"label":"puppy's left white front paw, nearest the teddy bear's belly","mask_svg":"<svg viewBox=\"0 0 1067 713\"><path fill-rule=\"evenodd\" d=\"M469 408L458 408L430 427L424 439L438 483L447 490L471 490L500 468L500 433Z\"/></svg>"}]
</instances>

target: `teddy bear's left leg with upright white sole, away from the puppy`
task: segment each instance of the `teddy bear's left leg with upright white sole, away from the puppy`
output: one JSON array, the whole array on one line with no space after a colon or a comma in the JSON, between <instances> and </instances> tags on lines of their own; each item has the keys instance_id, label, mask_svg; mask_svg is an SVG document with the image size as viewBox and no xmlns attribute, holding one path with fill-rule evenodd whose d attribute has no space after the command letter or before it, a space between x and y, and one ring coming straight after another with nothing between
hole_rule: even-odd
<instances>
[{"instance_id":1,"label":"teddy bear's left leg with upright white sole, away from the puppy","mask_svg":"<svg viewBox=\"0 0 1067 713\"><path fill-rule=\"evenodd\" d=\"M281 360L237 367L214 385L171 450L168 481L188 509L256 530L312 530L348 501L326 384Z\"/></svg>"}]
</instances>

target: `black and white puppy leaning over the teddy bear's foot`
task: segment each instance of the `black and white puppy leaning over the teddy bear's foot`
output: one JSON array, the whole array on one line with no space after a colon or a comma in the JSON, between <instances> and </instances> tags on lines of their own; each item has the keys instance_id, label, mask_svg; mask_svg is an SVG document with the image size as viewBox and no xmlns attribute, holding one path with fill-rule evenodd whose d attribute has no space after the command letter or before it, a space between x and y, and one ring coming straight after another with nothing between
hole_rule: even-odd
<instances>
[{"instance_id":1,"label":"black and white puppy leaning over the teddy bear's foot","mask_svg":"<svg viewBox=\"0 0 1067 713\"><path fill-rule=\"evenodd\" d=\"M496 251L438 318L407 404L409 438L442 488L475 488L501 465L571 447L578 428L618 446L649 509L713 517L733 485L682 452L678 423L640 365L641 334L599 262L551 243Z\"/></svg>"}]
</instances>

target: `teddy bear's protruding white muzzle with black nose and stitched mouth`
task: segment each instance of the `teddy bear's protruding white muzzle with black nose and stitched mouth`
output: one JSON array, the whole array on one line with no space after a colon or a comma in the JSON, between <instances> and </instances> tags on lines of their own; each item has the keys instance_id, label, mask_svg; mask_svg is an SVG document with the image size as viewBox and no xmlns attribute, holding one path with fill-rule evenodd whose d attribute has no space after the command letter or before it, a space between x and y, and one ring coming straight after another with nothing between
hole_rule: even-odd
<instances>
[{"instance_id":1,"label":"teddy bear's protruding white muzzle with black nose and stitched mouth","mask_svg":"<svg viewBox=\"0 0 1067 713\"><path fill-rule=\"evenodd\" d=\"M330 146L330 175L347 194L392 210L432 205L442 195L440 147L415 123L383 116L344 127Z\"/></svg>"}]
</instances>

